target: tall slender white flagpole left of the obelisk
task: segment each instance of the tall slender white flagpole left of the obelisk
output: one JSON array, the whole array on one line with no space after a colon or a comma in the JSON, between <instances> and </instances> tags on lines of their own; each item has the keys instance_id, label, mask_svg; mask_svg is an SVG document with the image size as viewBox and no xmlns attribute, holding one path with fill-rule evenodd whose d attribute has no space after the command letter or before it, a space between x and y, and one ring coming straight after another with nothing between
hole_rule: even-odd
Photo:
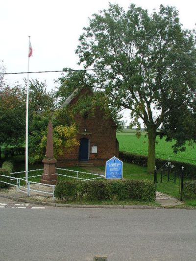
<instances>
[{"instance_id":1,"label":"tall slender white flagpole left of the obelisk","mask_svg":"<svg viewBox=\"0 0 196 261\"><path fill-rule=\"evenodd\" d=\"M28 45L30 47L30 36L28 37ZM29 89L29 48L28 48L28 68L26 83L26 135L25 135L25 179L28 181L28 89Z\"/></svg>"}]
</instances>

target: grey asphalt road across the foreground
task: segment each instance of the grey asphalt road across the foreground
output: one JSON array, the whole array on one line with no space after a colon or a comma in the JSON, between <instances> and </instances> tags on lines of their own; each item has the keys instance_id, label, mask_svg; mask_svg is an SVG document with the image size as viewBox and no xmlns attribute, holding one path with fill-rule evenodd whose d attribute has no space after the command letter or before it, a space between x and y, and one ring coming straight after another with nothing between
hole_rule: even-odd
<instances>
[{"instance_id":1,"label":"grey asphalt road across the foreground","mask_svg":"<svg viewBox=\"0 0 196 261\"><path fill-rule=\"evenodd\" d=\"M196 210L0 209L0 261L195 261Z\"/></svg>"}]
</instances>

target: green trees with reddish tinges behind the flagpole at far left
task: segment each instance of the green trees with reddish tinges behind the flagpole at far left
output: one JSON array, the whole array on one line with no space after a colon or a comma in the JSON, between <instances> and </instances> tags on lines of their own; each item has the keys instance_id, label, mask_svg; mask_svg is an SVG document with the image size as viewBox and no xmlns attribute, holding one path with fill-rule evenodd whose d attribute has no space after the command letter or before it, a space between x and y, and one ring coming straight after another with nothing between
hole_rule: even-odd
<instances>
[{"instance_id":1,"label":"green trees with reddish tinges behind the flagpole at far left","mask_svg":"<svg viewBox=\"0 0 196 261\"><path fill-rule=\"evenodd\" d=\"M0 69L2 70L2 69ZM26 85L26 80L25 80ZM29 84L29 133L32 118L38 111L53 110L55 97L46 91L46 83L32 80ZM26 86L0 84L0 145L23 146L25 143ZM35 143L35 142L33 142Z\"/></svg>"}]
</instances>

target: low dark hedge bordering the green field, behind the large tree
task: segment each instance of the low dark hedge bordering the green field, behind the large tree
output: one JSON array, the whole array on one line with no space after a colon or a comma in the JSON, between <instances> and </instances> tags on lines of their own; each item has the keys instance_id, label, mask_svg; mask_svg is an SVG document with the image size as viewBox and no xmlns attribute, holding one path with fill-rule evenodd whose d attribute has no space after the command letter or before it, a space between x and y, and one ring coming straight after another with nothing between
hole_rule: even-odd
<instances>
[{"instance_id":1,"label":"low dark hedge bordering the green field, behind the large tree","mask_svg":"<svg viewBox=\"0 0 196 261\"><path fill-rule=\"evenodd\" d=\"M123 162L128 162L140 166L147 166L147 156L131 154L129 152L120 151L119 158ZM157 169L163 166L167 161L163 159L156 159L156 167ZM172 165L175 166L177 173L181 173L182 166L184 166L184 176L190 179L196 179L196 165L178 162L178 161L170 161Z\"/></svg>"}]
</instances>

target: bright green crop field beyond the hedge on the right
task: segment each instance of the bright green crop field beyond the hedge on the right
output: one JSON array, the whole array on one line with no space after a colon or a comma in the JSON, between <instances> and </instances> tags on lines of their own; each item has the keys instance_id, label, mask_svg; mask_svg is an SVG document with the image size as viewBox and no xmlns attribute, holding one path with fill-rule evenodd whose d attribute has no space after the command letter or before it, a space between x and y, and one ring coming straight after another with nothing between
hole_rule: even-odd
<instances>
[{"instance_id":1,"label":"bright green crop field beyond the hedge on the right","mask_svg":"<svg viewBox=\"0 0 196 261\"><path fill-rule=\"evenodd\" d=\"M145 133L138 139L136 132L132 130L125 130L117 133L119 141L119 150L147 156L148 140ZM186 146L183 152L173 153L172 145L174 142L166 142L165 139L157 137L156 140L156 158L180 162L187 162L196 165L196 146Z\"/></svg>"}]
</instances>

